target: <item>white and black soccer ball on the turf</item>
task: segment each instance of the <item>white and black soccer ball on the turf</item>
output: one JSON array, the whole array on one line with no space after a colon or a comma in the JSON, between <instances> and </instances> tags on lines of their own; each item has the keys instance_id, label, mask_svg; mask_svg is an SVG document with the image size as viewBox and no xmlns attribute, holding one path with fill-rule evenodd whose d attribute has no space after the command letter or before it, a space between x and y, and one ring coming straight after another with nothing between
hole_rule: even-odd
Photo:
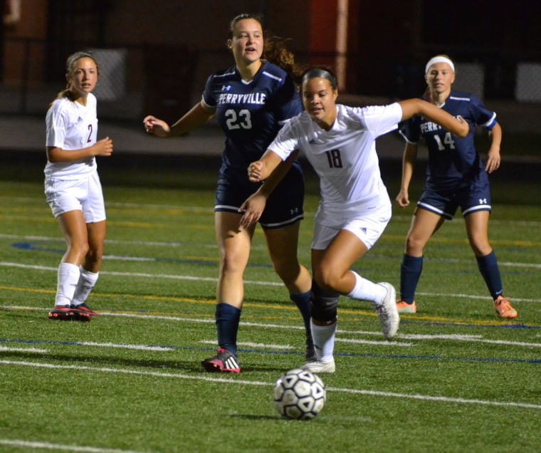
<instances>
[{"instance_id":1,"label":"white and black soccer ball on the turf","mask_svg":"<svg viewBox=\"0 0 541 453\"><path fill-rule=\"evenodd\" d=\"M311 420L321 412L327 398L319 376L295 368L274 383L274 407L280 415L293 420Z\"/></svg>"}]
</instances>

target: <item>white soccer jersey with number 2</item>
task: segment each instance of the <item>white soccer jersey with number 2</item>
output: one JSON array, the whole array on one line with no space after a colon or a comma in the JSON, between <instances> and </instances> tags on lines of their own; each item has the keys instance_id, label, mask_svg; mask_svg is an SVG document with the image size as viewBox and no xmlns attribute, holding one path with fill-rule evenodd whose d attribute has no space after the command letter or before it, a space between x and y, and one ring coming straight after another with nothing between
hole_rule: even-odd
<instances>
[{"instance_id":1,"label":"white soccer jersey with number 2","mask_svg":"<svg viewBox=\"0 0 541 453\"><path fill-rule=\"evenodd\" d=\"M46 115L46 146L63 150L80 150L95 144L98 137L96 98L88 94L86 105L68 98L57 99ZM78 179L96 171L95 157L70 162L47 162L46 177Z\"/></svg>"}]
</instances>

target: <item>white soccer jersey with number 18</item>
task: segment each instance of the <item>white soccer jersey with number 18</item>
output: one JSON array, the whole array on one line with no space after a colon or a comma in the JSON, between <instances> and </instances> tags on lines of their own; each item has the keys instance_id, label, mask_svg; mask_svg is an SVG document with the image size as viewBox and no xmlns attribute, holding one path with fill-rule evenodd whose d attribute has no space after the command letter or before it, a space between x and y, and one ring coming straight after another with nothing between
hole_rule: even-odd
<instances>
[{"instance_id":1,"label":"white soccer jersey with number 18","mask_svg":"<svg viewBox=\"0 0 541 453\"><path fill-rule=\"evenodd\" d=\"M395 130L402 118L398 103L365 108L337 104L329 131L307 112L292 118L269 145L282 160L302 150L320 177L320 223L363 217L391 201L380 172L376 138Z\"/></svg>"}]
</instances>

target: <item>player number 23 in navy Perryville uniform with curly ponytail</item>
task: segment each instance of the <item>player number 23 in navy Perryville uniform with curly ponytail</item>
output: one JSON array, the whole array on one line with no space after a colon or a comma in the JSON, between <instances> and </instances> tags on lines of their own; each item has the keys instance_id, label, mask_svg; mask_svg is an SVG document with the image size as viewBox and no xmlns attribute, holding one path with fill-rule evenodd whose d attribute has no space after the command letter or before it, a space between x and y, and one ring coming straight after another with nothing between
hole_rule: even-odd
<instances>
[{"instance_id":1,"label":"player number 23 in navy Perryville uniform with curly ponytail","mask_svg":"<svg viewBox=\"0 0 541 453\"><path fill-rule=\"evenodd\" d=\"M265 49L263 49L265 44ZM170 126L153 116L143 123L159 137L182 135L216 118L226 135L215 199L216 241L220 252L216 294L218 351L201 365L210 372L238 373L237 331L243 304L243 273L248 264L255 225L241 227L241 205L265 204L261 227L274 269L288 288L303 316L306 355L313 357L310 335L310 273L297 258L298 232L303 219L304 178L293 156L281 170L285 175L265 184L250 182L246 167L263 155L280 127L302 110L292 75L293 56L281 41L263 41L261 18L236 16L230 24L227 46L235 66L214 73L206 81L203 98ZM263 60L263 50L269 60ZM285 68L285 69L284 69ZM277 186L278 184L278 186ZM269 195L272 192L272 196ZM267 200L268 198L268 200Z\"/></svg>"}]
</instances>

